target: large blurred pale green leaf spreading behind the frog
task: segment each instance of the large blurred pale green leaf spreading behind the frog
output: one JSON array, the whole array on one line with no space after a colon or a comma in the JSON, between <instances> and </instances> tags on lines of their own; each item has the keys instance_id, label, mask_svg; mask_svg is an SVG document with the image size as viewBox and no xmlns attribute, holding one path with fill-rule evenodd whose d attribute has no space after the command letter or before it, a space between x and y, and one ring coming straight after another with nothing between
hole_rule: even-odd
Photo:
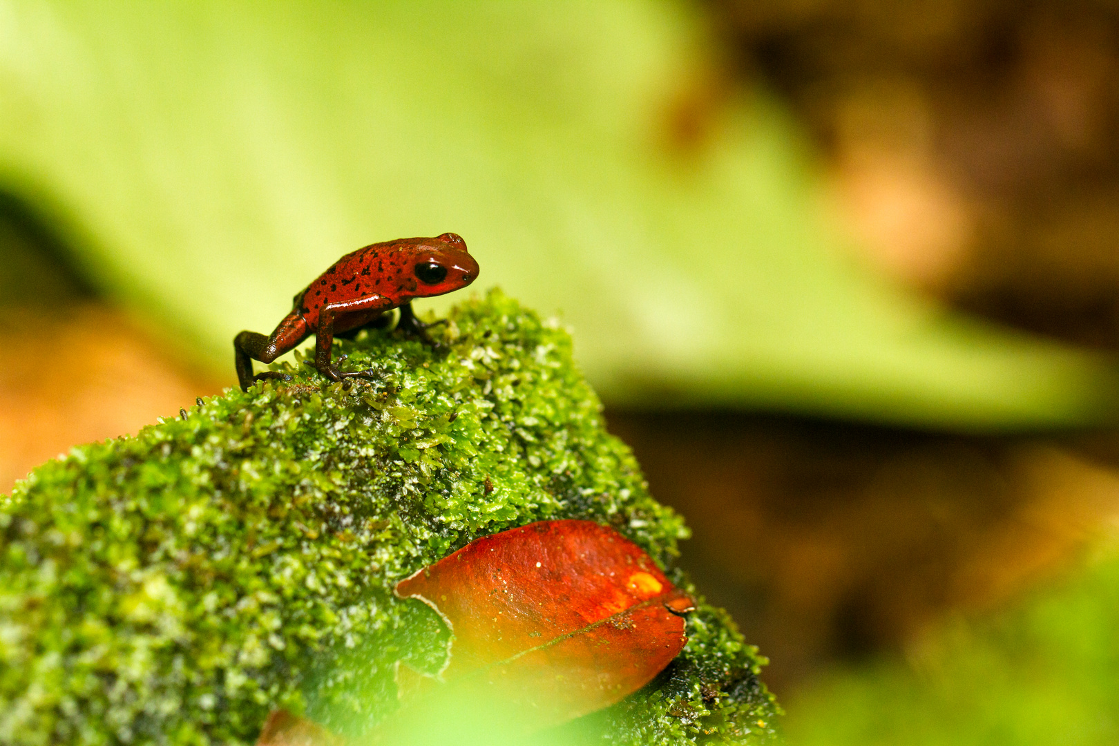
<instances>
[{"instance_id":1,"label":"large blurred pale green leaf spreading behind the frog","mask_svg":"<svg viewBox=\"0 0 1119 746\"><path fill-rule=\"evenodd\" d=\"M611 403L1113 421L1108 361L852 261L763 95L669 147L666 107L706 44L693 12L0 0L0 185L222 370L237 331L270 331L340 254L455 230L480 286L574 327Z\"/></svg>"}]
</instances>

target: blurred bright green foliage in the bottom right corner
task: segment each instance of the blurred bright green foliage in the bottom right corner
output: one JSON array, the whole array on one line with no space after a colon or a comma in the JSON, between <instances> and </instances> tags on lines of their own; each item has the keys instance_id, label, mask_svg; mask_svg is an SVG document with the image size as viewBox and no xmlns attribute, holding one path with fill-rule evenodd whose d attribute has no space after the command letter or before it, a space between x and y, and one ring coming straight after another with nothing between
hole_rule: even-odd
<instances>
[{"instance_id":1,"label":"blurred bright green foliage in the bottom right corner","mask_svg":"<svg viewBox=\"0 0 1119 746\"><path fill-rule=\"evenodd\" d=\"M1119 740L1119 548L1014 610L929 635L908 662L787 702L790 746L1089 746Z\"/></svg>"}]
</instances>

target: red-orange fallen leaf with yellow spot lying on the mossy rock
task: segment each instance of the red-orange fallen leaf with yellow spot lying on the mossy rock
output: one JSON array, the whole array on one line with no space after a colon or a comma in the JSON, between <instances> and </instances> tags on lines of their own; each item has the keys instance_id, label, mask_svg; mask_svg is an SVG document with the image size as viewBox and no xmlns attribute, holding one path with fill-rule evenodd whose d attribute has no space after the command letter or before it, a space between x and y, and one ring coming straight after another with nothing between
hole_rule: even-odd
<instances>
[{"instance_id":1,"label":"red-orange fallen leaf with yellow spot lying on the mossy rock","mask_svg":"<svg viewBox=\"0 0 1119 746\"><path fill-rule=\"evenodd\" d=\"M537 726L637 691L684 648L693 602L652 558L592 521L530 523L468 544L396 585L451 627L448 682L485 682Z\"/></svg>"}]
</instances>

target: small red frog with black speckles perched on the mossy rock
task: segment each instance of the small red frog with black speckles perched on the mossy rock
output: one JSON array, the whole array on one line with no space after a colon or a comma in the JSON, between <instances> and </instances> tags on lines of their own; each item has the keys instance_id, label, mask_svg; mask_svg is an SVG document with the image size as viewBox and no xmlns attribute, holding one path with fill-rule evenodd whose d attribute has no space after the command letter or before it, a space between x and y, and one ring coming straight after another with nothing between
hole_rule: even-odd
<instances>
[{"instance_id":1,"label":"small red frog with black speckles perched on the mossy rock","mask_svg":"<svg viewBox=\"0 0 1119 746\"><path fill-rule=\"evenodd\" d=\"M330 360L335 337L352 338L366 325L382 325L385 314L401 310L397 329L431 343L425 324L412 313L412 300L466 287L478 276L478 262L467 242L453 233L435 238L401 238L370 244L347 254L294 299L294 308L271 337L243 331L233 340L237 379L248 390L254 380L285 378L279 372L253 376L253 360L272 362L314 334L314 367L333 381L366 375L342 372Z\"/></svg>"}]
</instances>

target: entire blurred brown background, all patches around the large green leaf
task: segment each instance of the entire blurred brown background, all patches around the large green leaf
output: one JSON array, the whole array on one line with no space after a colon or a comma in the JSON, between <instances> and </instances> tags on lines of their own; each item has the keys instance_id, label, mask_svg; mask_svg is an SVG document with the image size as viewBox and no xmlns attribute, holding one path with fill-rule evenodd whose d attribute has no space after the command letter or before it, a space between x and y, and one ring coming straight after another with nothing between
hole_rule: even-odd
<instances>
[{"instance_id":1,"label":"entire blurred brown background, all patches around the large green leaf","mask_svg":"<svg viewBox=\"0 0 1119 746\"><path fill-rule=\"evenodd\" d=\"M683 142L704 136L721 92L760 82L811 133L866 261L951 305L1119 348L1116 7L704 9L723 62L669 112ZM98 300L45 225L0 200L12 257L0 270L0 492L76 443L233 383ZM735 412L608 419L653 493L688 518L681 564L772 657L779 695L1012 598L1119 518L1111 433L961 436Z\"/></svg>"}]
</instances>

